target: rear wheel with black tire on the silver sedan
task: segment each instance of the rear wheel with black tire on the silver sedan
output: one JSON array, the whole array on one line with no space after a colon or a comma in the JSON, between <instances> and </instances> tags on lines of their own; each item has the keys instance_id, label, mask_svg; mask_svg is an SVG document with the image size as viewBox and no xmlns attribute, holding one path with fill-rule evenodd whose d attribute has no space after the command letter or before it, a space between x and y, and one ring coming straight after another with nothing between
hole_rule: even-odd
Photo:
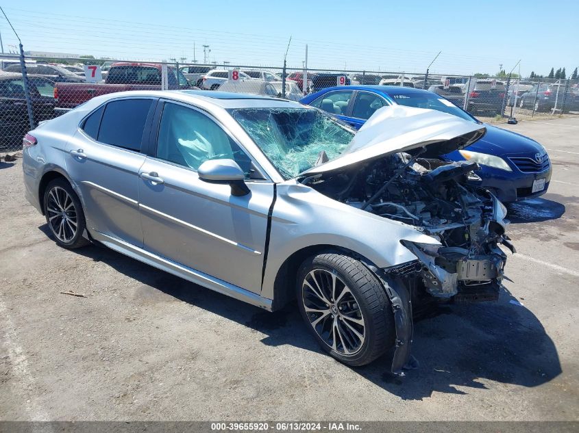
<instances>
[{"instance_id":1,"label":"rear wheel with black tire on the silver sedan","mask_svg":"<svg viewBox=\"0 0 579 433\"><path fill-rule=\"evenodd\" d=\"M64 193L68 194L69 198L65 198ZM86 220L81 202L68 181L65 179L51 181L45 189L43 204L46 222L58 245L73 250L90 244L88 239L82 237L86 228ZM62 227L60 226L61 221ZM73 230L74 224L76 224L75 230Z\"/></svg>"}]
</instances>

